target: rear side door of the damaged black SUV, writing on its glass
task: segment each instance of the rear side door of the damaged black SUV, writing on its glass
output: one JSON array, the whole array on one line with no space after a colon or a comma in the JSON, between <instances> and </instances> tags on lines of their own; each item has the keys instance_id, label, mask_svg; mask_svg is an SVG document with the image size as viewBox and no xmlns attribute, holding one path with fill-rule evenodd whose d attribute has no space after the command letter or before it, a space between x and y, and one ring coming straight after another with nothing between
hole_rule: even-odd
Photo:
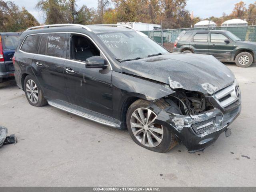
<instances>
[{"instance_id":1,"label":"rear side door of the damaged black SUV, writing on its glass","mask_svg":"<svg viewBox=\"0 0 256 192\"><path fill-rule=\"evenodd\" d=\"M66 33L41 35L38 54L34 56L32 68L49 100L67 101L63 74L66 58Z\"/></svg>"}]
</instances>

